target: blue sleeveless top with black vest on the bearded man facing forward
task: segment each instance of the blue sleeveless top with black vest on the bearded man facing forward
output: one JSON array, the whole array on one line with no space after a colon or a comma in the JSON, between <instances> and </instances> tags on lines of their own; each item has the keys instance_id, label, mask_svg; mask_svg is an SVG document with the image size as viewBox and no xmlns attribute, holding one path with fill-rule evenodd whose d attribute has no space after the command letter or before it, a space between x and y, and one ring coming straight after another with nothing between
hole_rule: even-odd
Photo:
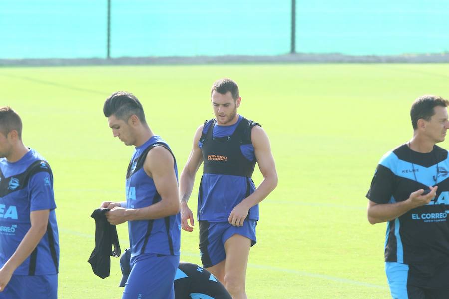
<instances>
[{"instance_id":1,"label":"blue sleeveless top with black vest on the bearded man facing forward","mask_svg":"<svg viewBox=\"0 0 449 299\"><path fill-rule=\"evenodd\" d=\"M232 209L254 192L251 175L256 157L251 129L255 125L241 115L231 126L220 126L215 119L205 122L198 143L204 162L198 220L227 222ZM259 220L258 205L249 209L248 218Z\"/></svg>"}]
</instances>

